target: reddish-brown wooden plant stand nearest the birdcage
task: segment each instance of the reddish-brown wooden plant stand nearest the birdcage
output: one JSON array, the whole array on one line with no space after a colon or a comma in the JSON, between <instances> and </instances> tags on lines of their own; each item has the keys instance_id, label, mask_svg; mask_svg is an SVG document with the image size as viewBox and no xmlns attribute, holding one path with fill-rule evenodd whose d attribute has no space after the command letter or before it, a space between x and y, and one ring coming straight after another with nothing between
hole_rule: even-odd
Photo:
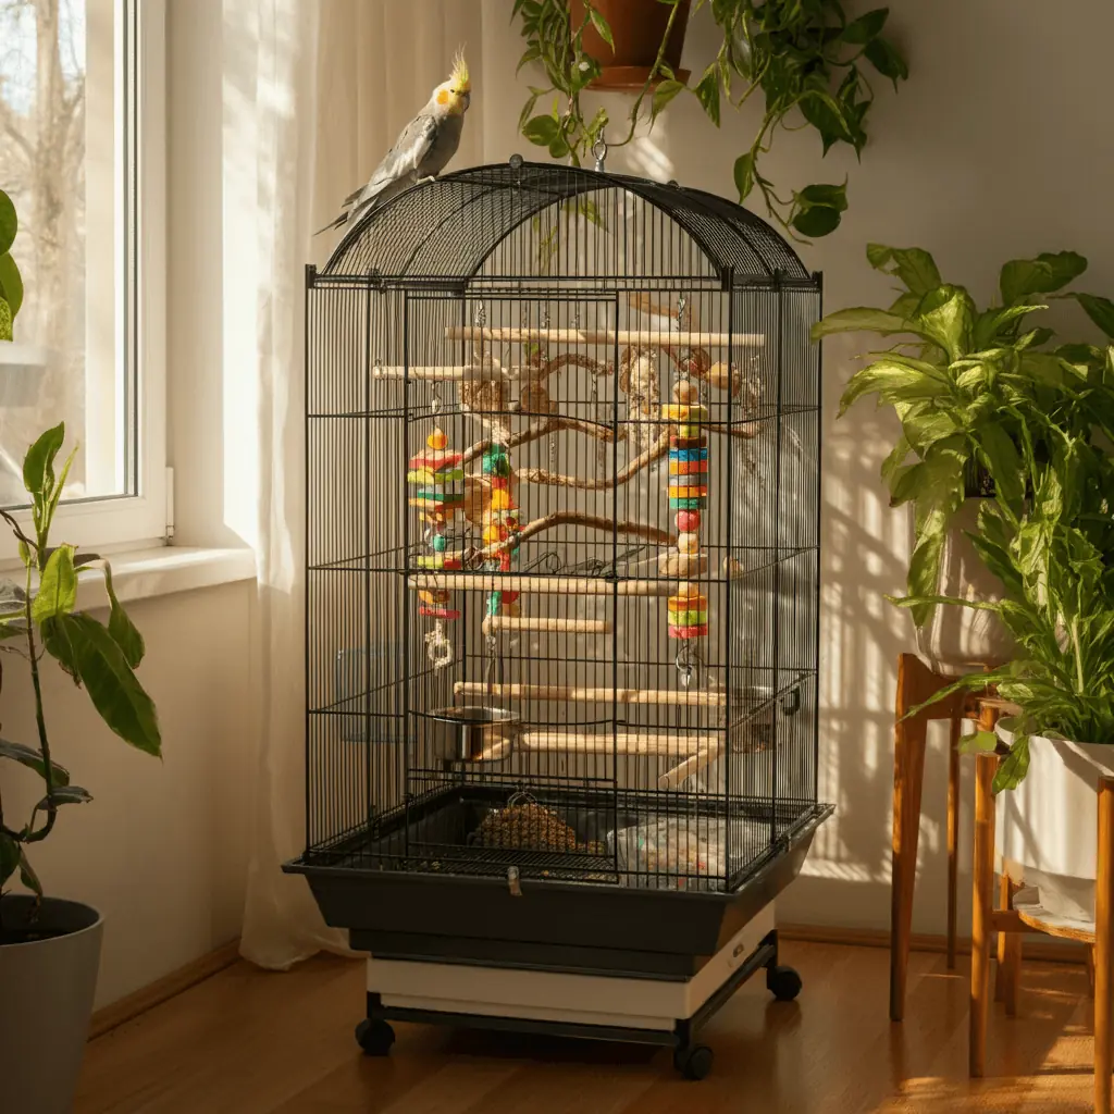
<instances>
[{"instance_id":1,"label":"reddish-brown wooden plant stand nearest the birdcage","mask_svg":"<svg viewBox=\"0 0 1114 1114\"><path fill-rule=\"evenodd\" d=\"M930 720L950 721L948 740L948 967L956 965L956 883L959 843L959 736L965 720L993 731L998 702L988 694L955 693L906 720L906 713L955 682L929 668L916 654L898 657L893 724L893 859L890 897L890 1018L905 1016L912 898L920 838L920 798Z\"/></svg>"}]
</instances>

